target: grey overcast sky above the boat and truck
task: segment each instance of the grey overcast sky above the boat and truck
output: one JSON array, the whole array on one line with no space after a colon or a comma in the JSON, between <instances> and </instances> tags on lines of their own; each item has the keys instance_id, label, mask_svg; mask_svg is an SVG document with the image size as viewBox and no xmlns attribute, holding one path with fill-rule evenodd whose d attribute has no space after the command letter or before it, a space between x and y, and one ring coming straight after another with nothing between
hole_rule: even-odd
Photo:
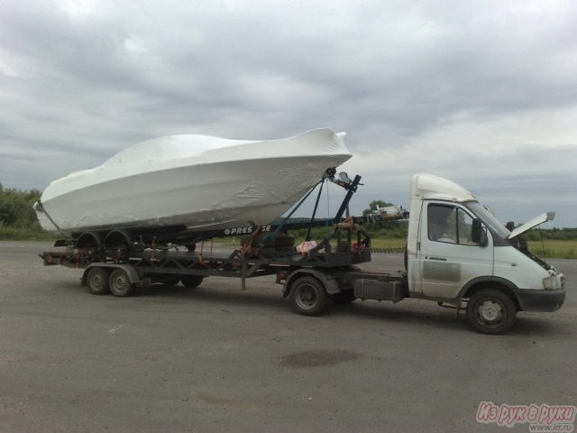
<instances>
[{"instance_id":1,"label":"grey overcast sky above the boat and truck","mask_svg":"<svg viewBox=\"0 0 577 433\"><path fill-rule=\"evenodd\" d=\"M372 199L411 175L577 226L577 2L0 2L0 182L44 189L170 134L347 132Z\"/></svg>"}]
</instances>

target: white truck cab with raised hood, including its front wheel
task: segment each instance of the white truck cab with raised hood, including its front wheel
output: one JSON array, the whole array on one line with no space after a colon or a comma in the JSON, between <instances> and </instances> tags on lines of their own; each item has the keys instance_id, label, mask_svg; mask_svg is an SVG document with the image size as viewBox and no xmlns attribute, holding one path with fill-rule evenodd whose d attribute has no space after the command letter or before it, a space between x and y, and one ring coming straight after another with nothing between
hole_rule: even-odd
<instances>
[{"instance_id":1,"label":"white truck cab with raised hood, including its front wheel","mask_svg":"<svg viewBox=\"0 0 577 433\"><path fill-rule=\"evenodd\" d=\"M430 174L410 190L408 295L461 308L477 330L501 334L517 311L563 305L564 277L529 253L518 235L553 219L536 217L512 232L466 189Z\"/></svg>"}]
</instances>

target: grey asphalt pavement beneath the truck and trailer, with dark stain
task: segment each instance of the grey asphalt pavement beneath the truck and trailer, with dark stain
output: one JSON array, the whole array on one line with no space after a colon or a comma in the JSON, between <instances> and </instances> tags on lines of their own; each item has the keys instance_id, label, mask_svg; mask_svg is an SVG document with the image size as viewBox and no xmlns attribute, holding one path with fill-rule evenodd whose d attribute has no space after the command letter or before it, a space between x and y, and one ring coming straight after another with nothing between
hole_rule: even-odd
<instances>
[{"instance_id":1,"label":"grey asphalt pavement beneath the truck and trailer, with dark stain","mask_svg":"<svg viewBox=\"0 0 577 433\"><path fill-rule=\"evenodd\" d=\"M527 432L478 423L480 402L577 404L577 261L551 261L563 309L485 336L413 299L298 316L269 277L93 296L47 249L0 242L1 433Z\"/></svg>"}]
</instances>

